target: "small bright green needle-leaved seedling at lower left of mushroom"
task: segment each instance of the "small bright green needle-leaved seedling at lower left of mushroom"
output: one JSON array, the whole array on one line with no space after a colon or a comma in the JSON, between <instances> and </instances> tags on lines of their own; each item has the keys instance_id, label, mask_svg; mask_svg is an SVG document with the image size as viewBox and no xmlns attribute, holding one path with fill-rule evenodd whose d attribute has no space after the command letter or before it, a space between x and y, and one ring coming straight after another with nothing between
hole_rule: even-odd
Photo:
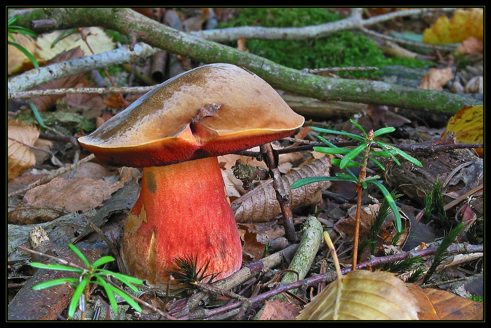
<instances>
[{"instance_id":1,"label":"small bright green needle-leaved seedling at lower left of mushroom","mask_svg":"<svg viewBox=\"0 0 491 328\"><path fill-rule=\"evenodd\" d=\"M113 284L109 278L114 277L120 280L123 284L128 286L133 292L137 293L138 288L133 285L142 285L143 282L140 279L123 275L121 273L112 272L106 269L98 268L101 265L104 265L109 262L113 262L115 259L112 256L104 256L100 259L95 260L92 264L89 263L87 258L78 250L74 245L68 244L68 247L85 263L87 267L81 267L74 263L69 263L59 259L65 265L60 264L43 264L39 262L32 262L31 266L37 267L40 269L49 269L49 270L61 270L61 271L72 271L80 275L77 278L59 278L50 281L46 281L40 284L37 284L32 287L33 290L40 290L44 288L49 288L53 286L58 286L62 284L70 284L75 289L75 292L72 295L72 299L68 306L68 318L72 318L77 309L77 305L81 309L82 312L85 312L85 304L87 303L88 294L90 290L90 286L92 284L96 284L102 286L105 290L109 302L111 303L112 309L115 313L118 312L118 303L115 298L115 294L119 295L123 298L133 309L138 312L142 312L142 308L138 303L128 295L126 292L118 288L115 284Z\"/></svg>"}]
</instances>

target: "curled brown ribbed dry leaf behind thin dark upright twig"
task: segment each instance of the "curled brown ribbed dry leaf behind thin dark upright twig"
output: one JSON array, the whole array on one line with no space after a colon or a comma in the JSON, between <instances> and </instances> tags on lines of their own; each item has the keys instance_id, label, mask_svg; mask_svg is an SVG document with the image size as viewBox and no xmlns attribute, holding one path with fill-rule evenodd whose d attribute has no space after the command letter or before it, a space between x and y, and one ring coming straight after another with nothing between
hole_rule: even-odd
<instances>
[{"instance_id":1,"label":"curled brown ribbed dry leaf behind thin dark upright twig","mask_svg":"<svg viewBox=\"0 0 491 328\"><path fill-rule=\"evenodd\" d=\"M329 176L331 162L327 156L312 161L302 168L292 171L282 177L285 185L291 185L295 181L309 176ZM269 180L268 180L269 181ZM270 221L281 213L279 202L276 199L275 188L268 181L254 188L246 198L238 205L232 203L235 220L237 222L261 222ZM304 187L293 189L292 208L306 206L320 200L321 191L330 185L330 182L317 182Z\"/></svg>"}]
</instances>

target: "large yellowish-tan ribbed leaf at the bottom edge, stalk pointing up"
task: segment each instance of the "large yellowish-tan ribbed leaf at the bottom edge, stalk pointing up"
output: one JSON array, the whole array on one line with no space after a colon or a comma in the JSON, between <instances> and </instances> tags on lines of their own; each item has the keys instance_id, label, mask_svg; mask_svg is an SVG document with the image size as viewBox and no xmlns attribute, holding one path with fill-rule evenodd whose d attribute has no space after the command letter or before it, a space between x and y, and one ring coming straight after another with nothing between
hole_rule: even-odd
<instances>
[{"instance_id":1,"label":"large yellowish-tan ribbed leaf at the bottom edge, stalk pointing up","mask_svg":"<svg viewBox=\"0 0 491 328\"><path fill-rule=\"evenodd\" d=\"M354 270L332 282L297 320L418 320L420 307L406 284L386 271Z\"/></svg>"}]
</instances>

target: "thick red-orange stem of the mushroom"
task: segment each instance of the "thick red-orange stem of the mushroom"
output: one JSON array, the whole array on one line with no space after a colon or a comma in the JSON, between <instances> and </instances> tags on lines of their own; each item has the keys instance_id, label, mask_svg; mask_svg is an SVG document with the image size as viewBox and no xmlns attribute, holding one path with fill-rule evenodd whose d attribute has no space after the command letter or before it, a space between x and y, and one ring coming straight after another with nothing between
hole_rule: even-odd
<instances>
[{"instance_id":1,"label":"thick red-orange stem of the mushroom","mask_svg":"<svg viewBox=\"0 0 491 328\"><path fill-rule=\"evenodd\" d=\"M158 288L167 287L178 258L197 259L197 269L208 264L215 280L240 269L242 243L215 157L143 169L122 257L129 274Z\"/></svg>"}]
</instances>

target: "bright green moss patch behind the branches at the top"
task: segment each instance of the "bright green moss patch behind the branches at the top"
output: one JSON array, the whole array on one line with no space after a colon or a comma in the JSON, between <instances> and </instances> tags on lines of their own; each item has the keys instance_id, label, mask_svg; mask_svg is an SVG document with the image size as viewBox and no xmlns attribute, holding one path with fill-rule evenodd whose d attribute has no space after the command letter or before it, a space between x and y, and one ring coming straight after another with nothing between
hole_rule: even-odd
<instances>
[{"instance_id":1,"label":"bright green moss patch behind the branches at the top","mask_svg":"<svg viewBox=\"0 0 491 328\"><path fill-rule=\"evenodd\" d=\"M263 26L302 27L340 20L344 17L326 8L244 8L236 19L219 27ZM324 68L348 66L430 65L414 59L386 58L367 36L341 31L327 37L302 41L247 40L250 53L295 68ZM342 72L344 77L373 77L377 72Z\"/></svg>"}]
</instances>

